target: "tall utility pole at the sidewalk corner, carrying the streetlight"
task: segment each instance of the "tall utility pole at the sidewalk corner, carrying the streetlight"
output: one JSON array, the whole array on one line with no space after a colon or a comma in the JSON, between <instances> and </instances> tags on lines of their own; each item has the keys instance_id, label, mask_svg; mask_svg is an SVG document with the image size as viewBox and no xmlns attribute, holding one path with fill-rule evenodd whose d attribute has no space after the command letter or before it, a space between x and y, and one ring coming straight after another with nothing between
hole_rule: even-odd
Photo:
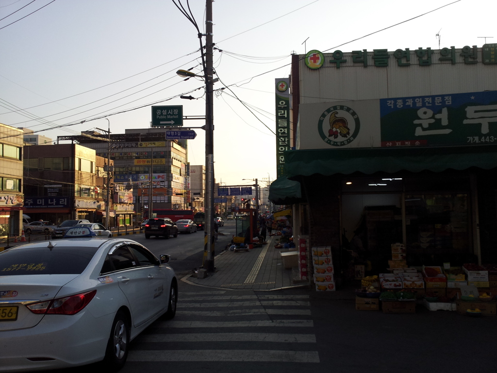
<instances>
[{"instance_id":1,"label":"tall utility pole at the sidewalk corner, carrying the streetlight","mask_svg":"<svg viewBox=\"0 0 497 373\"><path fill-rule=\"evenodd\" d=\"M205 260L205 269L207 272L214 272L214 248L213 248L213 235L214 235L214 123L213 123L213 45L212 45L212 0L206 0L205 5L205 65L204 76L206 86L206 99L205 99L205 167L207 170L207 177L205 183L205 191L207 194L207 258Z\"/></svg>"}]
</instances>

